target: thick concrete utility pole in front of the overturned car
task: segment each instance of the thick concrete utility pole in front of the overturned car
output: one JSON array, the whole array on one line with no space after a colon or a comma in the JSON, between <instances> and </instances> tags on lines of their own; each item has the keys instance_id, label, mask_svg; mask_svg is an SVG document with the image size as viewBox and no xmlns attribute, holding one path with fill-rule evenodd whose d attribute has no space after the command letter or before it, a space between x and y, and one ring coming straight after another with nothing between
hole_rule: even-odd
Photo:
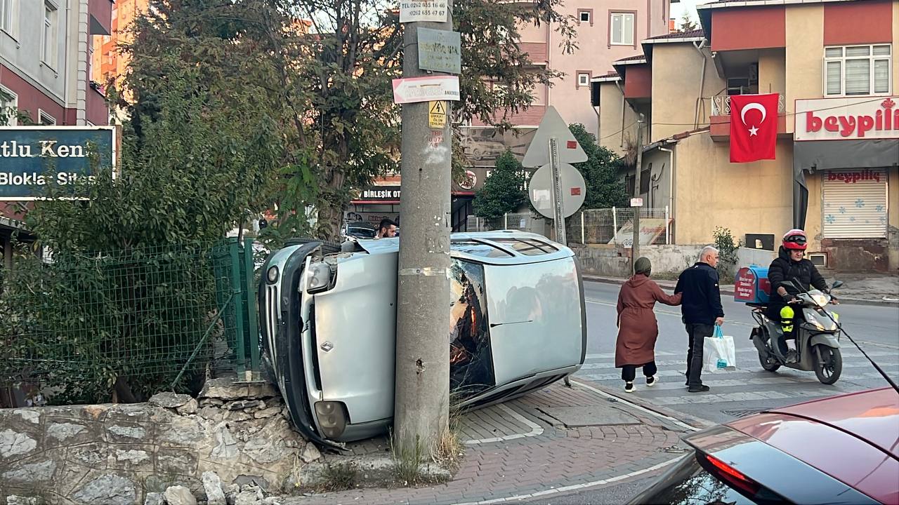
<instances>
[{"instance_id":1,"label":"thick concrete utility pole in front of the overturned car","mask_svg":"<svg viewBox=\"0 0 899 505\"><path fill-rule=\"evenodd\" d=\"M445 22L403 25L404 78L429 75L419 69L418 28L452 31L451 0L447 10ZM442 103L449 108L449 101ZM452 134L449 120L442 128L431 128L428 102L405 103L402 107L402 233L396 285L393 435L399 456L426 456L449 421Z\"/></svg>"}]
</instances>

